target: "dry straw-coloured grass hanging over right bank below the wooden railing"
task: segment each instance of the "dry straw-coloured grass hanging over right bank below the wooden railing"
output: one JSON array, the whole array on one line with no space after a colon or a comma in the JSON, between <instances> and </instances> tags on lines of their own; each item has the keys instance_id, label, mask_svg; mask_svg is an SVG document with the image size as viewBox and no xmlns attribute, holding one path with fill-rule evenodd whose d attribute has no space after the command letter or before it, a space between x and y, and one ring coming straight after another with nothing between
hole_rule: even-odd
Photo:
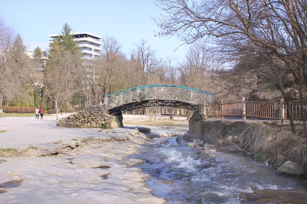
<instances>
[{"instance_id":1,"label":"dry straw-coloured grass hanging over right bank below the wooden railing","mask_svg":"<svg viewBox=\"0 0 307 204\"><path fill-rule=\"evenodd\" d=\"M251 152L258 160L266 160L277 166L294 161L307 169L307 138L303 137L301 124L296 125L297 134L290 125L253 123L239 133L236 142L241 150Z\"/></svg>"}]
</instances>

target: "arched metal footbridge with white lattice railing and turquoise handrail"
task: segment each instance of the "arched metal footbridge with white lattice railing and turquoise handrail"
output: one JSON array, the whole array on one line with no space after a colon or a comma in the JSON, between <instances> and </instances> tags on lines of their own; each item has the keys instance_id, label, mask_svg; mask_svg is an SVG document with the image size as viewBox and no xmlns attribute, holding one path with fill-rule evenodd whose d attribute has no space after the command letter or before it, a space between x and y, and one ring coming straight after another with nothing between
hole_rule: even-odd
<instances>
[{"instance_id":1,"label":"arched metal footbridge with white lattice railing and turquoise handrail","mask_svg":"<svg viewBox=\"0 0 307 204\"><path fill-rule=\"evenodd\" d=\"M105 96L103 107L111 115L135 109L163 106L194 111L212 102L213 93L182 86L149 85L125 89Z\"/></svg>"}]
</instances>

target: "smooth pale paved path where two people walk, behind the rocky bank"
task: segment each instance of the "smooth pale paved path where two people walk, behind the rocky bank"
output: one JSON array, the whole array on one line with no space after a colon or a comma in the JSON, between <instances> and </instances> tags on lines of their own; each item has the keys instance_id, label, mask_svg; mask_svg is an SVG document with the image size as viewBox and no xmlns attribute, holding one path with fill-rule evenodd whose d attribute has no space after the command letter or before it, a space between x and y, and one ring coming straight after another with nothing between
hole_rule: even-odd
<instances>
[{"instance_id":1,"label":"smooth pale paved path where two people walk, behind the rocky bank","mask_svg":"<svg viewBox=\"0 0 307 204\"><path fill-rule=\"evenodd\" d=\"M67 117L63 114L60 117ZM33 117L4 117L0 118L0 148L26 148L29 145L53 145L62 140L69 142L94 136L98 129L80 129L75 127L58 127L56 116L44 116L42 120ZM100 130L100 129L99 129Z\"/></svg>"}]
</instances>

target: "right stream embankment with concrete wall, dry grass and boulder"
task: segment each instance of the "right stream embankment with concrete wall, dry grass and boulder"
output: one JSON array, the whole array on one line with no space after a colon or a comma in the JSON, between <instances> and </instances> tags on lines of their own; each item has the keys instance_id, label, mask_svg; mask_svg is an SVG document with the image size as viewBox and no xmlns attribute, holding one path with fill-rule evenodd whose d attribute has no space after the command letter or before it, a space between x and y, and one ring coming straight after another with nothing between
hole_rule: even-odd
<instances>
[{"instance_id":1,"label":"right stream embankment with concrete wall, dry grass and boulder","mask_svg":"<svg viewBox=\"0 0 307 204\"><path fill-rule=\"evenodd\" d=\"M205 120L195 112L189 120L189 134L182 139L203 140L220 150L244 152L272 164L278 173L301 175L307 172L305 145L307 138L291 132L290 125L269 122Z\"/></svg>"}]
</instances>

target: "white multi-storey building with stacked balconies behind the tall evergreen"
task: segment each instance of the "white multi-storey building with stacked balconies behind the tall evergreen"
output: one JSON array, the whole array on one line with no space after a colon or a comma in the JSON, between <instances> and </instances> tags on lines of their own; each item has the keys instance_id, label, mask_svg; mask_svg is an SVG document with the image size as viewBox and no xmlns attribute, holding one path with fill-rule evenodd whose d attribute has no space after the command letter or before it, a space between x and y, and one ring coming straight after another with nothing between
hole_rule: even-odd
<instances>
[{"instance_id":1,"label":"white multi-storey building with stacked balconies behind the tall evergreen","mask_svg":"<svg viewBox=\"0 0 307 204\"><path fill-rule=\"evenodd\" d=\"M102 38L101 36L89 32L74 32L72 35L81 49L83 59L94 59L101 56L100 52L102 48L100 45L102 45L102 43L99 41ZM49 44L51 44L57 36L60 36L60 34L49 35L49 37L52 38L52 40L49 40Z\"/></svg>"}]
</instances>

